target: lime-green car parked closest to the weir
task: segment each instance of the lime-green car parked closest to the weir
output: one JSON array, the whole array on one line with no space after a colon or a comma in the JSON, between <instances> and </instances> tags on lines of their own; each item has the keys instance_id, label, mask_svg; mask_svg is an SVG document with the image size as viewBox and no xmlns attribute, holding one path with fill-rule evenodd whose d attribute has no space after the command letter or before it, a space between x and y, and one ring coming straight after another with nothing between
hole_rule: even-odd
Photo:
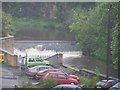
<instances>
[{"instance_id":1,"label":"lime-green car parked closest to the weir","mask_svg":"<svg viewBox=\"0 0 120 90\"><path fill-rule=\"evenodd\" d=\"M49 65L50 62L46 59L42 59L41 57L38 56L28 56L23 58L25 61L25 64L30 67L30 66L36 66L36 65Z\"/></svg>"}]
</instances>

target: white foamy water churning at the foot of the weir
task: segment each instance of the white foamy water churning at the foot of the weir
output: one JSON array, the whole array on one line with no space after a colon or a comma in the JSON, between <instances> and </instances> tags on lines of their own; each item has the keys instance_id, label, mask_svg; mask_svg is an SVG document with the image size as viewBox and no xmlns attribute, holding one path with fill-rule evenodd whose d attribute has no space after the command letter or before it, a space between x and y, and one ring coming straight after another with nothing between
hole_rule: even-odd
<instances>
[{"instance_id":1,"label":"white foamy water churning at the foot of the weir","mask_svg":"<svg viewBox=\"0 0 120 90\"><path fill-rule=\"evenodd\" d=\"M24 51L20 51L19 49L14 49L14 54L19 56L40 56L40 57L50 57L53 56L55 54L59 54L62 53L63 54L63 58L70 58L70 57L81 57L82 52L80 51L71 51L71 52L56 52L54 50L38 50L35 48L29 48L26 49Z\"/></svg>"}]
</instances>

